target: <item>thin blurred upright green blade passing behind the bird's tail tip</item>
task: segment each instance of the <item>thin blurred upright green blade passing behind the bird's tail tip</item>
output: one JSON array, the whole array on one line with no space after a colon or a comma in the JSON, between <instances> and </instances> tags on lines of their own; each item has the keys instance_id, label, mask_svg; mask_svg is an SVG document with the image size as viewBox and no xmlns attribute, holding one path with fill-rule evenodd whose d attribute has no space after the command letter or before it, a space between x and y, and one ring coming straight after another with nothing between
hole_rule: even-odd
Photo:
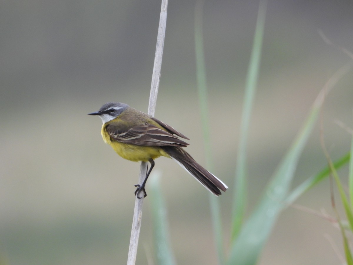
<instances>
[{"instance_id":1,"label":"thin blurred upright green blade passing behind the bird's tail tip","mask_svg":"<svg viewBox=\"0 0 353 265\"><path fill-rule=\"evenodd\" d=\"M208 170L213 171L212 151L210 147L210 125L208 115L208 97L207 97L207 81L205 70L205 59L203 49L203 34L202 34L202 11L204 0L198 0L195 6L195 54L196 54L196 72L197 72L197 88L199 96L199 104L201 110L201 123L203 132L203 142L205 148L205 159ZM225 264L224 247L223 247L223 232L221 211L219 200L210 194L210 210L213 222L214 237L216 241L216 249L218 261L220 264Z\"/></svg>"}]
</instances>

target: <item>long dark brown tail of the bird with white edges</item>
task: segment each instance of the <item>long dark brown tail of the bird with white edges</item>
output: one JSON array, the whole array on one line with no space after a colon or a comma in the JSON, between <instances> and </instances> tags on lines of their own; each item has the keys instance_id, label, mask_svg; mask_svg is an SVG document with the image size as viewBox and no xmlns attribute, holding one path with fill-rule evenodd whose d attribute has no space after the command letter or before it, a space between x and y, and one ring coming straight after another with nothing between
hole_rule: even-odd
<instances>
[{"instance_id":1,"label":"long dark brown tail of the bird with white edges","mask_svg":"<svg viewBox=\"0 0 353 265\"><path fill-rule=\"evenodd\" d=\"M226 184L199 165L183 148L170 146L163 147L163 150L214 195L221 195L221 190L225 192L228 189Z\"/></svg>"}]
</instances>

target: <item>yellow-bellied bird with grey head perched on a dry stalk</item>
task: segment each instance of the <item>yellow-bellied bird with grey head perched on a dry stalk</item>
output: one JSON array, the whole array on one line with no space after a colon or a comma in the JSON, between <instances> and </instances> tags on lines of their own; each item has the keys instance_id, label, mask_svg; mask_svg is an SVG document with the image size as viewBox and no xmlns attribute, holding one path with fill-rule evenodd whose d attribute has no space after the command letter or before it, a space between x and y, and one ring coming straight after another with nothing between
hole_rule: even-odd
<instances>
[{"instance_id":1,"label":"yellow-bellied bird with grey head perched on a dry stalk","mask_svg":"<svg viewBox=\"0 0 353 265\"><path fill-rule=\"evenodd\" d=\"M103 141L120 157L150 163L143 183L135 185L137 189L134 194L138 199L147 196L146 181L155 165L154 160L161 156L172 158L216 196L228 189L225 183L204 169L184 150L189 144L180 138L189 138L155 117L121 102L108 102L97 112L88 115L102 119ZM142 192L143 196L140 196Z\"/></svg>"}]
</instances>

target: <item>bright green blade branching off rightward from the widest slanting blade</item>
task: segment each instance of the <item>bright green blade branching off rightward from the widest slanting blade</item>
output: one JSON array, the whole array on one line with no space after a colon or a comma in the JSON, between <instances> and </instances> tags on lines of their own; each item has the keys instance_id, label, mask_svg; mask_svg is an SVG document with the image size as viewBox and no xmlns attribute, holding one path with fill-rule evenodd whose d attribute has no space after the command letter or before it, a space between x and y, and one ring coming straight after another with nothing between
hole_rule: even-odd
<instances>
[{"instance_id":1,"label":"bright green blade branching off rightward from the widest slanting blade","mask_svg":"<svg viewBox=\"0 0 353 265\"><path fill-rule=\"evenodd\" d=\"M340 159L334 162L334 167L339 169L340 167L346 165L351 157L350 153L345 154ZM295 188L292 193L285 200L284 206L292 204L295 200L297 200L302 194L304 194L307 190L314 187L318 182L322 181L324 178L330 175L330 167L325 167L322 171L320 171L317 175L308 178L306 181L301 183L297 188ZM352 173L350 171L350 173Z\"/></svg>"}]
</instances>

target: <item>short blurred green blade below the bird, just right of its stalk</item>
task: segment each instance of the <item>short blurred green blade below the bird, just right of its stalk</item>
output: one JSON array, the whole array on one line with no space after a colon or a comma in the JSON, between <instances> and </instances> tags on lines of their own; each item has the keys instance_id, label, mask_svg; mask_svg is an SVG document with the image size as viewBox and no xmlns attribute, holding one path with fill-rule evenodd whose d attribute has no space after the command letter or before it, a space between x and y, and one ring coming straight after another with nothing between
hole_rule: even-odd
<instances>
[{"instance_id":1,"label":"short blurred green blade below the bird, just right of its stalk","mask_svg":"<svg viewBox=\"0 0 353 265\"><path fill-rule=\"evenodd\" d=\"M155 257L160 265L176 264L168 233L167 210L159 184L160 173L154 172L149 179L152 210L152 223L154 231Z\"/></svg>"}]
</instances>

